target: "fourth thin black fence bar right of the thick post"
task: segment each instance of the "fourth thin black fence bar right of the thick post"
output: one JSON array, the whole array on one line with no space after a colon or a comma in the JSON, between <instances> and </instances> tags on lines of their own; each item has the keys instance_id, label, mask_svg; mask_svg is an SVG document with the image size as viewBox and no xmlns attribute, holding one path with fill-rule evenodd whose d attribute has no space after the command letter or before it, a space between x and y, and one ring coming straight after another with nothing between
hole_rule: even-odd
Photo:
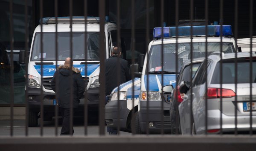
<instances>
[{"instance_id":1,"label":"fourth thin black fence bar right of the thick post","mask_svg":"<svg viewBox=\"0 0 256 151\"><path fill-rule=\"evenodd\" d=\"M164 1L161 0L161 85L163 87L163 18L164 18L164 14L163 14L163 9L164 9ZM161 90L159 90L161 91ZM163 101L161 101L161 134L163 134Z\"/></svg>"}]
</instances>

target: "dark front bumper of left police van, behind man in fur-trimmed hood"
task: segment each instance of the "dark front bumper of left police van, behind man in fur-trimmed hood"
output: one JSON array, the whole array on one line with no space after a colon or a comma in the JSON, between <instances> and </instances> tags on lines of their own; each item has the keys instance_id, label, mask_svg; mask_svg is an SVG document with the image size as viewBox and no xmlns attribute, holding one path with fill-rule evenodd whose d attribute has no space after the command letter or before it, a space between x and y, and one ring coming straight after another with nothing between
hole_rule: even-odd
<instances>
[{"instance_id":1,"label":"dark front bumper of left police van, behind man in fur-trimmed hood","mask_svg":"<svg viewBox=\"0 0 256 151\"><path fill-rule=\"evenodd\" d=\"M43 91L41 89L28 88L28 96L32 99L28 99L29 109L34 111L40 111L41 100L43 100L44 111L54 111L53 99L55 99L55 93ZM42 99L41 99L42 98ZM99 88L92 88L87 90L87 105L90 109L97 109L99 106ZM84 109L85 98L80 99L79 109Z\"/></svg>"}]
</instances>

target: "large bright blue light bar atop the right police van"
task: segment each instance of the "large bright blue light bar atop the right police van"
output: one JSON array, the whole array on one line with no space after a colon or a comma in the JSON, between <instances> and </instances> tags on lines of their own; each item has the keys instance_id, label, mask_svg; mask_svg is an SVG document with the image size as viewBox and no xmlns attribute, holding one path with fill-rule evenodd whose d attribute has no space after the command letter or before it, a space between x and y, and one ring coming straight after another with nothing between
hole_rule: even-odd
<instances>
[{"instance_id":1,"label":"large bright blue light bar atop the right police van","mask_svg":"<svg viewBox=\"0 0 256 151\"><path fill-rule=\"evenodd\" d=\"M205 35L205 28L208 28L208 33ZM176 37L176 36L191 36L191 26L179 26L178 35L176 35L176 27L164 27L163 38ZM192 36L220 36L220 25L209 26L192 26ZM154 28L153 37L161 38L162 28ZM222 36L232 36L231 25L222 25Z\"/></svg>"}]
</instances>

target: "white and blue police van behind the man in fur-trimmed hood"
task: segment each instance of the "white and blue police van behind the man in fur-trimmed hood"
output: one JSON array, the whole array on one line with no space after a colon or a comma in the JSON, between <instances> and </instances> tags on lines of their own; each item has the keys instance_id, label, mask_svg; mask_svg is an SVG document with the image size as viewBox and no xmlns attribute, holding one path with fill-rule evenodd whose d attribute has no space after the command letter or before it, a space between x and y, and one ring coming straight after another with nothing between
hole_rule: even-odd
<instances>
[{"instance_id":1,"label":"white and blue police van behind the man in fur-trimmed hood","mask_svg":"<svg viewBox=\"0 0 256 151\"><path fill-rule=\"evenodd\" d=\"M86 24L84 20L87 20ZM88 109L98 110L99 102L99 17L73 17L70 25L70 17L58 17L58 65L64 64L64 60L70 57L70 30L72 28L73 66L81 70L84 82L87 84ZM86 25L86 36L85 36ZM35 28L28 63L29 82L26 87L29 104L29 126L37 126L40 115L41 89L43 90L44 120L51 120L54 115L55 92L51 89L51 79L55 73L55 17L43 19L43 31L41 25ZM106 59L111 55L112 48L116 45L116 25L105 22L105 50ZM43 35L41 35L43 34ZM43 37L41 54L41 36ZM87 54L85 54L85 37ZM85 62L87 56L87 62ZM41 63L41 57L43 62ZM42 69L41 69L42 68ZM85 75L85 68L87 74ZM43 71L43 72L42 72ZM43 78L43 83L41 83ZM79 111L84 108L84 99L81 99ZM77 111L77 110L76 110Z\"/></svg>"}]
</instances>

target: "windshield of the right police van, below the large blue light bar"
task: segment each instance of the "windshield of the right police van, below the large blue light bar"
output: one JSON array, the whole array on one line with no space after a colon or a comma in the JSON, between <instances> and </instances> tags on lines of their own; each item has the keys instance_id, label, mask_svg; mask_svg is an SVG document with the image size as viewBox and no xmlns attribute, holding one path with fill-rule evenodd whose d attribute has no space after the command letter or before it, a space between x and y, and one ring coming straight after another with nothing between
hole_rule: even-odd
<instances>
[{"instance_id":1,"label":"windshield of the right police van, below the large blue light bar","mask_svg":"<svg viewBox=\"0 0 256 151\"><path fill-rule=\"evenodd\" d=\"M200 58L205 56L205 42L193 42L192 43L192 55L191 55L191 42L178 43L177 48L177 66L176 71L176 43L163 44L163 71L166 73L178 73L182 64L193 58ZM207 42L207 51L212 53L220 51L220 42ZM232 42L222 42L222 51L224 53L233 53L235 48ZM148 53L148 72L147 73L159 73L162 71L161 64L161 45L152 45Z\"/></svg>"}]
</instances>

